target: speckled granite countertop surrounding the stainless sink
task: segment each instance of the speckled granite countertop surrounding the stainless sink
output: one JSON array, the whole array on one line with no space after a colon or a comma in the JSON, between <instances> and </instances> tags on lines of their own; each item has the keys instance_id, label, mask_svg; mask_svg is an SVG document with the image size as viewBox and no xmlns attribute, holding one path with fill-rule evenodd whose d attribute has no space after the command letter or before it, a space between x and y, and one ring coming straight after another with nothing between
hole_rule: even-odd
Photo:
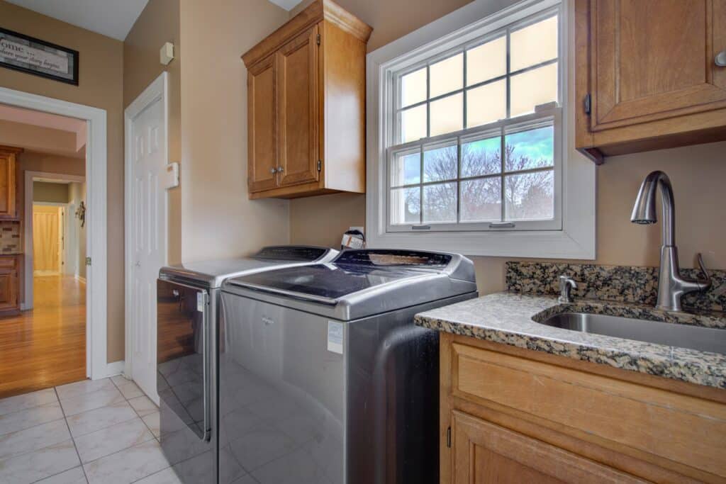
<instances>
[{"instance_id":1,"label":"speckled granite countertop surrounding the stainless sink","mask_svg":"<svg viewBox=\"0 0 726 484\"><path fill-rule=\"evenodd\" d=\"M417 314L422 327L544 351L632 372L726 388L726 355L570 331L539 324L555 313L584 312L725 328L726 313L669 313L653 306L603 300L560 304L551 295L499 292Z\"/></svg>"}]
</instances>

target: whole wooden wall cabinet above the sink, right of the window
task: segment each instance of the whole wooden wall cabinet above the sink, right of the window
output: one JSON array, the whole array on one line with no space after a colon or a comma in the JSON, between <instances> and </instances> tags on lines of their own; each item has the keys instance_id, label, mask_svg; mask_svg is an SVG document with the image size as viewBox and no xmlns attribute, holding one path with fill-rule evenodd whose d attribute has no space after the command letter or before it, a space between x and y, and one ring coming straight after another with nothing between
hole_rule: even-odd
<instances>
[{"instance_id":1,"label":"whole wooden wall cabinet above the sink, right of the window","mask_svg":"<svg viewBox=\"0 0 726 484\"><path fill-rule=\"evenodd\" d=\"M726 139L726 0L576 0L576 147L597 163Z\"/></svg>"}]
</instances>

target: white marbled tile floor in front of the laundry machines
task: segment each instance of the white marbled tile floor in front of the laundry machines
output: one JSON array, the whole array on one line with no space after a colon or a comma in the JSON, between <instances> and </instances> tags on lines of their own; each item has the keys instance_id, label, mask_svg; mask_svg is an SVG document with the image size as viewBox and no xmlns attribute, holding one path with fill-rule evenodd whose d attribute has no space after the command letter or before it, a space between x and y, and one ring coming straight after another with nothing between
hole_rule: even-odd
<instances>
[{"instance_id":1,"label":"white marbled tile floor in front of the laundry machines","mask_svg":"<svg viewBox=\"0 0 726 484\"><path fill-rule=\"evenodd\" d=\"M4 398L0 483L180 484L158 438L158 408L121 376Z\"/></svg>"}]
</instances>

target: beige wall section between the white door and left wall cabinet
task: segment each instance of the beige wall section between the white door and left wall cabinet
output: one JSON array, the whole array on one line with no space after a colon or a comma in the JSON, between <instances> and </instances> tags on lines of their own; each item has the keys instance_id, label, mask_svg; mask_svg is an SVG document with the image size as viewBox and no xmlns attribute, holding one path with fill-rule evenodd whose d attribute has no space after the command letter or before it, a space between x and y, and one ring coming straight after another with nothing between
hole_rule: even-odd
<instances>
[{"instance_id":1,"label":"beige wall section between the white door and left wall cabinet","mask_svg":"<svg viewBox=\"0 0 726 484\"><path fill-rule=\"evenodd\" d=\"M268 0L181 0L181 258L289 240L288 202L248 200L247 71L240 55L288 20Z\"/></svg>"}]
</instances>

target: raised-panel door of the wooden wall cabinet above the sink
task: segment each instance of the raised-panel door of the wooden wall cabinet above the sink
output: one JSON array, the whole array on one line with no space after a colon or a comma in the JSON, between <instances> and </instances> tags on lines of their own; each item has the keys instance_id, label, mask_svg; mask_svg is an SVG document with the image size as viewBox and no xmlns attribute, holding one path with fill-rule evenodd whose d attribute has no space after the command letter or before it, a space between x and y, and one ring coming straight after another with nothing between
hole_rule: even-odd
<instances>
[{"instance_id":1,"label":"raised-panel door of the wooden wall cabinet above the sink","mask_svg":"<svg viewBox=\"0 0 726 484\"><path fill-rule=\"evenodd\" d=\"M592 131L726 107L726 0L590 1Z\"/></svg>"}]
</instances>

